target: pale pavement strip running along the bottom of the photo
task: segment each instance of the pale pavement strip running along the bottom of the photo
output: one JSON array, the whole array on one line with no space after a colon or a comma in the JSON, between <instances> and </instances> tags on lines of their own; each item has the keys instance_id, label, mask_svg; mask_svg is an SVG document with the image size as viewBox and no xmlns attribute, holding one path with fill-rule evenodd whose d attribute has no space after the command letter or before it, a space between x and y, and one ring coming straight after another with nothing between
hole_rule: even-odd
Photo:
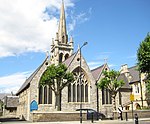
<instances>
[{"instance_id":1,"label":"pale pavement strip running along the bottom of the photo","mask_svg":"<svg viewBox=\"0 0 150 124\"><path fill-rule=\"evenodd\" d=\"M0 120L1 121L1 120ZM0 124L81 124L80 121L66 121L66 122L28 122L28 121L5 121ZM135 120L99 120L94 121L83 121L82 124L135 124ZM138 120L138 124L150 124L150 118L141 118Z\"/></svg>"}]
</instances>

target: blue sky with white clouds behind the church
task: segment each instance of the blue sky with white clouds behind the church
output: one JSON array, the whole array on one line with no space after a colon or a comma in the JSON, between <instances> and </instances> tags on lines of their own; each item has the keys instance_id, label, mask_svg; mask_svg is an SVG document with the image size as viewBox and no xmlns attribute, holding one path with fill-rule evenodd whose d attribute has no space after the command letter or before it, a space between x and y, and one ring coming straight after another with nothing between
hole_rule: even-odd
<instances>
[{"instance_id":1,"label":"blue sky with white clouds behind the church","mask_svg":"<svg viewBox=\"0 0 150 124\"><path fill-rule=\"evenodd\" d=\"M50 52L62 0L0 0L0 93L16 93ZM64 0L67 32L90 69L136 65L150 0Z\"/></svg>"}]
</instances>

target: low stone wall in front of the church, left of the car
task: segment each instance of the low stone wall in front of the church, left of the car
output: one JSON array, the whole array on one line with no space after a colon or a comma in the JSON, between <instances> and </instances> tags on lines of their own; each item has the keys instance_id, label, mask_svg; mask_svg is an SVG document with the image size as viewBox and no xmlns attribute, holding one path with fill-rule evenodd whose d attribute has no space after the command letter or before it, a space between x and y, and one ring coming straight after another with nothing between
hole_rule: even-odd
<instances>
[{"instance_id":1,"label":"low stone wall in front of the church, left of the car","mask_svg":"<svg viewBox=\"0 0 150 124\"><path fill-rule=\"evenodd\" d=\"M80 112L52 112L52 113L32 113L33 122L49 121L79 121ZM82 120L87 120L87 114L82 113Z\"/></svg>"}]
</instances>

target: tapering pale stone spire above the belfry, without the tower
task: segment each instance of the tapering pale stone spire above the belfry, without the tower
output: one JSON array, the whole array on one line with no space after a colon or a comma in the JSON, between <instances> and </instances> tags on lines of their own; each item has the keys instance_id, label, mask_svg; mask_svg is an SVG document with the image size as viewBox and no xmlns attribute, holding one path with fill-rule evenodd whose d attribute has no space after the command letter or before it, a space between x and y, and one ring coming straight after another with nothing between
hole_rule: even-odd
<instances>
[{"instance_id":1,"label":"tapering pale stone spire above the belfry, without the tower","mask_svg":"<svg viewBox=\"0 0 150 124\"><path fill-rule=\"evenodd\" d=\"M65 18L65 9L64 9L63 0L62 0L62 5L61 5L58 35L59 35L59 42L67 44L68 36L67 36L67 30L66 30L66 18Z\"/></svg>"}]
</instances>

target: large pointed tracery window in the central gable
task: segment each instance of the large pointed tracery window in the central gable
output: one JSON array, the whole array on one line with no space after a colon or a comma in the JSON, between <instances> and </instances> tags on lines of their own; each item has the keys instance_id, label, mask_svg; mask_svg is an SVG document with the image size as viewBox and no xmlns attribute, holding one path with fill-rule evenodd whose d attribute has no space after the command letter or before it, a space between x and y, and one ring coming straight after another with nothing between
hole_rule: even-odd
<instances>
[{"instance_id":1,"label":"large pointed tracery window in the central gable","mask_svg":"<svg viewBox=\"0 0 150 124\"><path fill-rule=\"evenodd\" d=\"M80 72L81 71L81 72ZM81 82L80 82L81 73ZM68 102L88 102L89 83L86 74L80 67L73 71L75 81L68 86Z\"/></svg>"}]
</instances>

